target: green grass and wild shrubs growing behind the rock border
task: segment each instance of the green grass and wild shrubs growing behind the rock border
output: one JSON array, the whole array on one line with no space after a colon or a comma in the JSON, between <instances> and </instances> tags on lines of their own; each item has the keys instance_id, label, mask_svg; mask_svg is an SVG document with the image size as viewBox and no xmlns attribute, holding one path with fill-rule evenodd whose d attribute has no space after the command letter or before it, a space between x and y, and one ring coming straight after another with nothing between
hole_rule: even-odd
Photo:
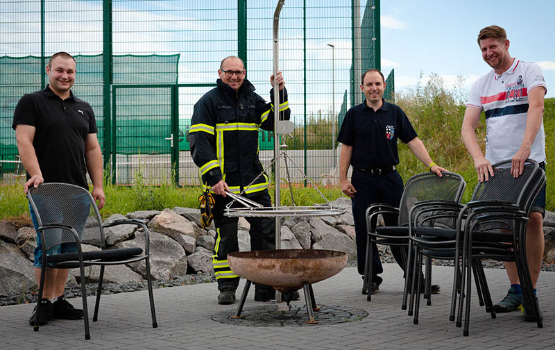
<instances>
[{"instance_id":1,"label":"green grass and wild shrubs growing behind the rock border","mask_svg":"<svg viewBox=\"0 0 555 350\"><path fill-rule=\"evenodd\" d=\"M461 140L461 124L464 116L464 101L466 97L459 86L453 89L445 88L441 77L432 74L428 83L416 85L412 90L404 94L397 94L395 101L411 119L419 138L424 142L434 162L449 169L451 172L461 174L466 180L466 191L463 202L469 201L472 190L477 185L477 174L474 163ZM486 126L482 115L477 126L478 140L482 149L485 147ZM555 143L550 135L555 135L555 99L545 100L544 128L546 135L547 160L555 160ZM331 125L331 124L330 124ZM329 135L330 125L325 122L321 114L311 117L307 125L307 133L311 136L309 140L321 144L311 144L311 148L321 147L329 149L329 138L323 138L323 134ZM317 137L316 137L317 136ZM399 172L407 179L420 172L427 171L413 156L410 149L399 144L400 165ZM555 211L555 172L551 164L547 165L547 203L546 209ZM108 172L107 172L108 173ZM171 181L162 181L162 185L154 186L145 178L135 174L135 183L131 186L114 186L106 184L106 205L101 210L103 217L112 214L134 212L137 210L163 210L174 206L185 206L188 208L198 207L198 196L201 194L199 187L178 188ZM171 176L173 178L173 176ZM109 181L105 181L109 182ZM330 201L341 197L339 186L322 187L320 190ZM273 189L270 190L273 194ZM294 198L298 206L311 206L314 203L323 203L324 200L310 186L307 188L293 186ZM281 199L283 206L291 205L291 196L287 186L282 188ZM0 219L8 219L16 224L30 222L28 218L28 203L23 193L22 184L0 185Z\"/></svg>"}]
</instances>

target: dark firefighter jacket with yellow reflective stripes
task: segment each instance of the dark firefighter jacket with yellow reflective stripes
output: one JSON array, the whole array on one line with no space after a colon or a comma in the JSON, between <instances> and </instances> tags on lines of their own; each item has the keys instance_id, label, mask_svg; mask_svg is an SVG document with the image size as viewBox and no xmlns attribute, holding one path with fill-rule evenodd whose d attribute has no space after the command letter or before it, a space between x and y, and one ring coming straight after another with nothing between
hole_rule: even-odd
<instances>
[{"instance_id":1,"label":"dark firefighter jacket with yellow reflective stripes","mask_svg":"<svg viewBox=\"0 0 555 350\"><path fill-rule=\"evenodd\" d=\"M236 94L221 79L194 106L189 145L194 163L200 168L203 184L212 188L221 179L234 193L259 194L268 188L268 176L258 158L258 129L273 131L272 103L255 93L255 87L244 80ZM291 115L287 90L280 92L280 119ZM248 186L248 187L247 187Z\"/></svg>"}]
</instances>

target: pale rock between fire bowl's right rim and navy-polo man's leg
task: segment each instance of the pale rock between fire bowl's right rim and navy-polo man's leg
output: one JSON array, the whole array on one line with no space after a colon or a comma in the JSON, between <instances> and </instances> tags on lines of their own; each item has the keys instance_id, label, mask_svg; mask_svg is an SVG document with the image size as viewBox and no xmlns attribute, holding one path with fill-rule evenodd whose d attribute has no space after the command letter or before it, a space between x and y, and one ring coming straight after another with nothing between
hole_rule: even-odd
<instances>
[{"instance_id":1,"label":"pale rock between fire bowl's right rim and navy-polo man's leg","mask_svg":"<svg viewBox=\"0 0 555 350\"><path fill-rule=\"evenodd\" d=\"M326 225L318 217L310 219L312 249L330 249L335 251L344 251L347 253L348 260L357 260L357 244L345 233Z\"/></svg>"}]
</instances>

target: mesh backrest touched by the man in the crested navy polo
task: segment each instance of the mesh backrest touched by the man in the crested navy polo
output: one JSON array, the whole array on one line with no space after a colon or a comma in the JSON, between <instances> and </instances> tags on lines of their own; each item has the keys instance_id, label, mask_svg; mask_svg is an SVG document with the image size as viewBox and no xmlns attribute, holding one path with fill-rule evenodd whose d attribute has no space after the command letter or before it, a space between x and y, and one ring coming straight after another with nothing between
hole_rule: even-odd
<instances>
[{"instance_id":1,"label":"mesh backrest touched by the man in the crested navy polo","mask_svg":"<svg viewBox=\"0 0 555 350\"><path fill-rule=\"evenodd\" d=\"M442 174L439 177L425 172L409 178L399 204L399 226L409 225L409 212L418 201L461 201L466 186L463 177L451 172Z\"/></svg>"}]
</instances>

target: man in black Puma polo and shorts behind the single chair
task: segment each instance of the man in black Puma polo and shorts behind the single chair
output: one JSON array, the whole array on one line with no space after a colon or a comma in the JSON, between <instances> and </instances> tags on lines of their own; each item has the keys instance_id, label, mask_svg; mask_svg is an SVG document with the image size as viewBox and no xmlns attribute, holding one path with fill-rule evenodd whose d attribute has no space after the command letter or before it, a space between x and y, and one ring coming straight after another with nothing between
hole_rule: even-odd
<instances>
[{"instance_id":1,"label":"man in black Puma polo and shorts behind the single chair","mask_svg":"<svg viewBox=\"0 0 555 350\"><path fill-rule=\"evenodd\" d=\"M75 82L76 62L69 53L54 54L46 66L49 85L42 91L24 94L15 108L12 128L15 129L17 149L27 170L24 191L45 182L71 183L89 189L87 169L94 185L92 196L104 206L103 165L96 122L89 103L71 92ZM31 219L37 219L31 206ZM85 214L84 220L88 215ZM84 226L85 222L83 222ZM37 232L35 248L35 278L40 283L42 242ZM76 251L75 244L60 244L50 253ZM83 310L74 308L64 298L68 269L46 269L42 306L29 319L31 325L47 324L53 318L80 319Z\"/></svg>"}]
</instances>

